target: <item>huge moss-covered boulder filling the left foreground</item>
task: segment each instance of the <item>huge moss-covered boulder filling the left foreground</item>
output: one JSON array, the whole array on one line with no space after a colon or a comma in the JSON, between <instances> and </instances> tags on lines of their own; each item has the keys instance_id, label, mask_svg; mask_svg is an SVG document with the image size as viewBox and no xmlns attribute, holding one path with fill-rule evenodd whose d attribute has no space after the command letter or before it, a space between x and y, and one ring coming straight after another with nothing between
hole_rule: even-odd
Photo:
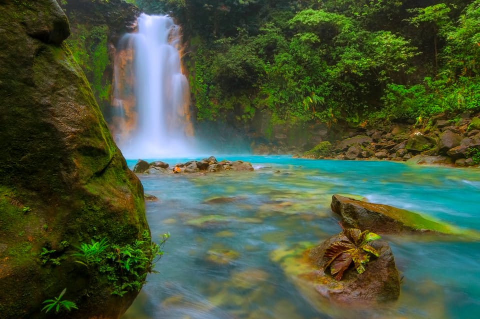
<instances>
[{"instance_id":1,"label":"huge moss-covered boulder filling the left foreground","mask_svg":"<svg viewBox=\"0 0 480 319\"><path fill-rule=\"evenodd\" d=\"M62 300L75 302L78 310L60 311L56 318L118 318L136 291L111 295L115 287L106 275L75 262L74 246L103 237L110 245L133 245L149 236L142 186L62 42L69 27L61 12L54 0L0 1L5 319L46 318L42 302L64 288Z\"/></svg>"}]
</instances>

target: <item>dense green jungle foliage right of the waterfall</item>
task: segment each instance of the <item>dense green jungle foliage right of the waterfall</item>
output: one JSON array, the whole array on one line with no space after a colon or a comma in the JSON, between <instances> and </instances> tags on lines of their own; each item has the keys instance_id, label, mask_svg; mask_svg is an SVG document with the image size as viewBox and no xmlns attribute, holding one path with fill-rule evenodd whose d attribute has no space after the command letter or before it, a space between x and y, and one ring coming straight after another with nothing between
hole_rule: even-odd
<instances>
[{"instance_id":1,"label":"dense green jungle foliage right of the waterfall","mask_svg":"<svg viewBox=\"0 0 480 319\"><path fill-rule=\"evenodd\" d=\"M135 3L181 24L199 120L266 109L364 125L480 109L480 0Z\"/></svg>"}]
</instances>

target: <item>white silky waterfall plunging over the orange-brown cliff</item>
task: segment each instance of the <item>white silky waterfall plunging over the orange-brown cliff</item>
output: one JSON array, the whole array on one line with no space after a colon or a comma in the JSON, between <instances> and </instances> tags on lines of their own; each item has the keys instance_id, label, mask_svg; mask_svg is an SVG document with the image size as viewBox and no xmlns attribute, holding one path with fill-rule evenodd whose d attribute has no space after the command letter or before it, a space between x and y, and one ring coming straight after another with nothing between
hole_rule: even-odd
<instances>
[{"instance_id":1,"label":"white silky waterfall plunging over the orange-brown cliff","mask_svg":"<svg viewBox=\"0 0 480 319\"><path fill-rule=\"evenodd\" d=\"M181 73L179 27L141 14L115 54L112 131L126 158L187 156L192 148L189 87Z\"/></svg>"}]
</instances>

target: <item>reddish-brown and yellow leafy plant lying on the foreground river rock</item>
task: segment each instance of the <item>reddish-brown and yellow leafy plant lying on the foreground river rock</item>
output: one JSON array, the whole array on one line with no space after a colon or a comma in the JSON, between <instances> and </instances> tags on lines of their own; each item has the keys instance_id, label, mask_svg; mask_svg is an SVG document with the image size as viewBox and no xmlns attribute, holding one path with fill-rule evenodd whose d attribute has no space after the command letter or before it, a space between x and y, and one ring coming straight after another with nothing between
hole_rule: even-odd
<instances>
[{"instance_id":1,"label":"reddish-brown and yellow leafy plant lying on the foreground river rock","mask_svg":"<svg viewBox=\"0 0 480 319\"><path fill-rule=\"evenodd\" d=\"M325 269L330 267L330 273L337 281L341 280L343 272L352 262L358 274L362 274L365 271L364 265L370 261L370 256L379 256L378 251L368 244L380 238L375 233L342 226L338 237L339 240L331 243L325 251L325 257L328 258Z\"/></svg>"}]
</instances>

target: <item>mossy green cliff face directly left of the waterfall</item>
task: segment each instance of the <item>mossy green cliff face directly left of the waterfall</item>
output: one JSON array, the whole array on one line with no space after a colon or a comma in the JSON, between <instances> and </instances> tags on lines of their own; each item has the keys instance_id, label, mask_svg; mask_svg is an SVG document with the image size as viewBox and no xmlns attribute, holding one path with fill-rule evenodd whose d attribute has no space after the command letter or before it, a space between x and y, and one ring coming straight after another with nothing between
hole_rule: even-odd
<instances>
[{"instance_id":1,"label":"mossy green cliff face directly left of the waterfall","mask_svg":"<svg viewBox=\"0 0 480 319\"><path fill-rule=\"evenodd\" d=\"M115 46L123 34L134 29L140 10L122 0L60 3L71 24L71 36L66 42L109 120Z\"/></svg>"}]
</instances>

